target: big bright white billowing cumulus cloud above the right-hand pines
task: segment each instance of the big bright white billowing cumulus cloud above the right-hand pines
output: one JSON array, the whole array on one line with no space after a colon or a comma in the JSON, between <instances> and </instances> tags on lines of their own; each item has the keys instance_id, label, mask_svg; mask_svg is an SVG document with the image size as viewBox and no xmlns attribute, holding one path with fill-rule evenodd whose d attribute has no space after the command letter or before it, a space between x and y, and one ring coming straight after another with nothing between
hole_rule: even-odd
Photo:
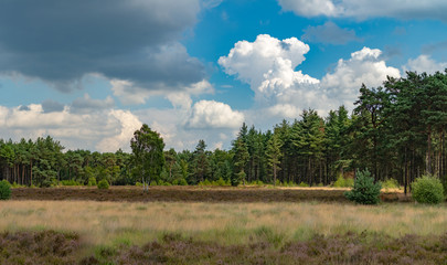
<instances>
[{"instance_id":1,"label":"big bright white billowing cumulus cloud above the right-hand pines","mask_svg":"<svg viewBox=\"0 0 447 265\"><path fill-rule=\"evenodd\" d=\"M257 113L248 112L248 119L252 115L258 119L297 118L306 108L326 114L342 104L351 107L362 83L377 86L386 75L400 76L397 68L381 59L380 50L364 47L349 60L339 60L333 72L319 81L296 70L308 51L309 46L295 38L280 41L259 35L253 43L237 42L219 60L227 74L237 75L255 92Z\"/></svg>"}]
</instances>

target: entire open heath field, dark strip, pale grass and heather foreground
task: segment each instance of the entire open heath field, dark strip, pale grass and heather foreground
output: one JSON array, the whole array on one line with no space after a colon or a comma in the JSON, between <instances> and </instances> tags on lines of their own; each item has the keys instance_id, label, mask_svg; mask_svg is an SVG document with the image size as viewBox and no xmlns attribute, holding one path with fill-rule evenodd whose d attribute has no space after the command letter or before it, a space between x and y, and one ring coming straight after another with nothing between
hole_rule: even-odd
<instances>
[{"instance_id":1,"label":"entire open heath field, dark strip, pale grass and heather foreground","mask_svg":"<svg viewBox=\"0 0 447 265\"><path fill-rule=\"evenodd\" d=\"M18 188L0 201L0 264L447 264L446 203L345 190Z\"/></svg>"}]
</instances>

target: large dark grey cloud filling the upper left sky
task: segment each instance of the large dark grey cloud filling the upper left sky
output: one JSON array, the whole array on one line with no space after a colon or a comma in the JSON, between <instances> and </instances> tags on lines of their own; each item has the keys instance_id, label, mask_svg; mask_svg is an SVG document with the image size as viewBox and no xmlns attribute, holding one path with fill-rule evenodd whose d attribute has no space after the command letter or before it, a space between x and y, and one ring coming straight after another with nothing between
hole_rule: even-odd
<instances>
[{"instance_id":1,"label":"large dark grey cloud filling the upper left sky","mask_svg":"<svg viewBox=\"0 0 447 265\"><path fill-rule=\"evenodd\" d=\"M196 22L199 0L0 1L0 74L76 87L100 73L150 88L188 85L204 66L178 41Z\"/></svg>"}]
</instances>

